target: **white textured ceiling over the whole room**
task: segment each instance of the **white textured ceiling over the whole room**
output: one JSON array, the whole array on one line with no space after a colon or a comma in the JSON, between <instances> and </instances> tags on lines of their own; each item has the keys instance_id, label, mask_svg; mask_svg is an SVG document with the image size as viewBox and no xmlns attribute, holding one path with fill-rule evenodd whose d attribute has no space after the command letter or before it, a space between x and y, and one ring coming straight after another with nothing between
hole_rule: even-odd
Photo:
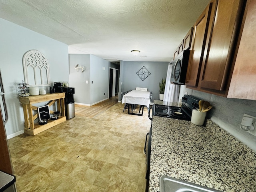
<instances>
[{"instance_id":1,"label":"white textured ceiling over the whole room","mask_svg":"<svg viewBox=\"0 0 256 192\"><path fill-rule=\"evenodd\" d=\"M0 0L0 17L68 44L70 54L170 61L209 1Z\"/></svg>"}]
</instances>

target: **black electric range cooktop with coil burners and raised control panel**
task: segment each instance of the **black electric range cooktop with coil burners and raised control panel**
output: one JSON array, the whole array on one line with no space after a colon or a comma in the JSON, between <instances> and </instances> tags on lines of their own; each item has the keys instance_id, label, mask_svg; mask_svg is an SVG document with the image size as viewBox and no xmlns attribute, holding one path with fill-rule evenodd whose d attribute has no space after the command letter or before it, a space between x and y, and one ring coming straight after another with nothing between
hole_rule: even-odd
<instances>
[{"instance_id":1,"label":"black electric range cooktop with coil burners and raised control panel","mask_svg":"<svg viewBox=\"0 0 256 192\"><path fill-rule=\"evenodd\" d=\"M153 115L190 121L193 108L199 107L199 100L194 96L184 95L181 107L154 104Z\"/></svg>"}]
</instances>

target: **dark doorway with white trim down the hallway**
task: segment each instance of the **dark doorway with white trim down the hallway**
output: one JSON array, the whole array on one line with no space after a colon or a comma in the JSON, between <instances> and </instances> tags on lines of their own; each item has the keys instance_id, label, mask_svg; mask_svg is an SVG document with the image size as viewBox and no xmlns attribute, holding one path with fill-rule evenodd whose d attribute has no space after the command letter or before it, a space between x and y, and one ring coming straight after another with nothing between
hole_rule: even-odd
<instances>
[{"instance_id":1,"label":"dark doorway with white trim down the hallway","mask_svg":"<svg viewBox=\"0 0 256 192\"><path fill-rule=\"evenodd\" d=\"M109 89L108 95L114 97L118 94L119 89L119 70L116 68L109 68Z\"/></svg>"}]
</instances>

